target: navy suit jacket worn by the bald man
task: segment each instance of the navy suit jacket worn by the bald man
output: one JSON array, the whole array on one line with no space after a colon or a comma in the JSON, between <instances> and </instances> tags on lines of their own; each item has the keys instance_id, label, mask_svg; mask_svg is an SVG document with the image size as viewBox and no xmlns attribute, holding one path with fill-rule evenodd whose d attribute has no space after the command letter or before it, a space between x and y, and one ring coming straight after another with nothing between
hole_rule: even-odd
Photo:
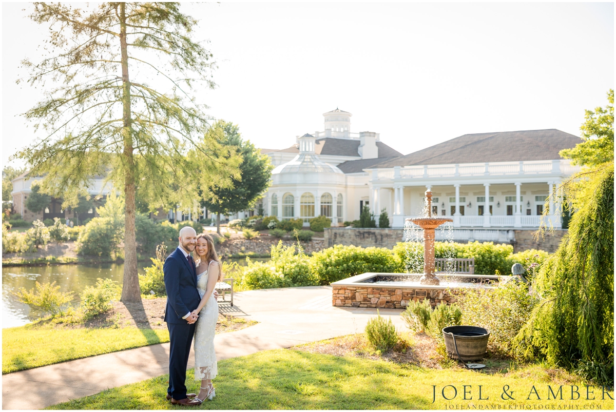
<instances>
[{"instance_id":1,"label":"navy suit jacket worn by the bald man","mask_svg":"<svg viewBox=\"0 0 616 412\"><path fill-rule=\"evenodd\" d=\"M182 317L197 309L201 301L197 291L197 274L179 248L176 248L164 261L163 273L164 288L167 289L164 321L188 323Z\"/></svg>"}]
</instances>

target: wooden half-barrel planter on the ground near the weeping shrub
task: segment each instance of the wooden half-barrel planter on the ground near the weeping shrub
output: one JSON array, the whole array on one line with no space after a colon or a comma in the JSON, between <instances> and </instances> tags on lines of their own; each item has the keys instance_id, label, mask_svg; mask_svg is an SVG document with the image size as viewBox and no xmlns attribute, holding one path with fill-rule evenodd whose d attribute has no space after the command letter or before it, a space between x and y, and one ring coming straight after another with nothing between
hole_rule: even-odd
<instances>
[{"instance_id":1,"label":"wooden half-barrel planter on the ground near the weeping shrub","mask_svg":"<svg viewBox=\"0 0 616 412\"><path fill-rule=\"evenodd\" d=\"M458 354L451 333L455 336L461 360L469 362L471 360L482 360L485 357L488 339L490 338L488 329L479 328L479 326L447 326L447 328L443 328L447 353L450 357L457 358Z\"/></svg>"}]
</instances>

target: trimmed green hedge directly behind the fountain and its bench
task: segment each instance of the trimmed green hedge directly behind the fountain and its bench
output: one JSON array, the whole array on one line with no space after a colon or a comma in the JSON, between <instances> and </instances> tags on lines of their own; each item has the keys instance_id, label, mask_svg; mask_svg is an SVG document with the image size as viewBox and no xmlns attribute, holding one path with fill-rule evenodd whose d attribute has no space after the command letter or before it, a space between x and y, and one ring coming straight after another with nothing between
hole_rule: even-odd
<instances>
[{"instance_id":1,"label":"trimmed green hedge directly behind the fountain and its bench","mask_svg":"<svg viewBox=\"0 0 616 412\"><path fill-rule=\"evenodd\" d=\"M394 252L403 262L403 267L409 273L423 272L423 245L416 242L399 242L394 246ZM475 258L475 273L477 275L508 275L511 274L509 256L513 254L511 244L450 243L435 242L434 254L437 258Z\"/></svg>"}]
</instances>

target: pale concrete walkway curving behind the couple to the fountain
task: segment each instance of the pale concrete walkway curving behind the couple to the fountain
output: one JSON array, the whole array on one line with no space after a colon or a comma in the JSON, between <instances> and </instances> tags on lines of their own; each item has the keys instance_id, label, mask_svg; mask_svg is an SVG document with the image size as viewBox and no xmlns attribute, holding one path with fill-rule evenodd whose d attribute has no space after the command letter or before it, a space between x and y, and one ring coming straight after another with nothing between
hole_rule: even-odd
<instances>
[{"instance_id":1,"label":"pale concrete walkway curving behind the couple to the fountain","mask_svg":"<svg viewBox=\"0 0 616 412\"><path fill-rule=\"evenodd\" d=\"M235 306L221 312L259 323L237 332L217 334L218 360L280 349L351 333L361 333L375 309L331 306L330 286L263 289L235 294ZM383 309L403 328L400 310ZM193 367L191 351L188 368ZM40 409L102 390L168 373L169 344L107 353L2 375L2 409Z\"/></svg>"}]
</instances>

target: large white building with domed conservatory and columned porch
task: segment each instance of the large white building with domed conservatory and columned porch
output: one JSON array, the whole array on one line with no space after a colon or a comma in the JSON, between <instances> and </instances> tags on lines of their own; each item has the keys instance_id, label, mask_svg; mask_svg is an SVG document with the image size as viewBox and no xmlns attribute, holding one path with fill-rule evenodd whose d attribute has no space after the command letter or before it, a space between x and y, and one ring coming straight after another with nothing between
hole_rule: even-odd
<instances>
[{"instance_id":1,"label":"large white building with domed conservatory and columned porch","mask_svg":"<svg viewBox=\"0 0 616 412\"><path fill-rule=\"evenodd\" d=\"M556 129L466 134L401 156L377 133L352 133L351 113L323 116L324 132L297 137L290 148L262 150L277 166L265 214L306 222L323 214L341 224L359 219L369 204L375 215L386 210L392 227L403 227L407 217L422 214L430 189L433 212L451 217L457 236L479 240L489 230L503 241L507 230L537 230L546 197L578 171L558 153L582 140ZM560 228L561 204L552 203L547 223Z\"/></svg>"}]
</instances>

